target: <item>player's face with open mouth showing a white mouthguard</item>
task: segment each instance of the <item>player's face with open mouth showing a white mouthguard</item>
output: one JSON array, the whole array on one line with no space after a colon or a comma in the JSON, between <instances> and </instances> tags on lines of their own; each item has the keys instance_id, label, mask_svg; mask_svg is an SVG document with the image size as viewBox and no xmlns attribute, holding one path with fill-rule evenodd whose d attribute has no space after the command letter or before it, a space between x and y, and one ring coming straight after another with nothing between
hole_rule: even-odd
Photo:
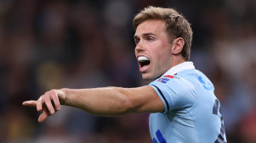
<instances>
[{"instance_id":1,"label":"player's face with open mouth showing a white mouthguard","mask_svg":"<svg viewBox=\"0 0 256 143\"><path fill-rule=\"evenodd\" d=\"M155 80L171 68L172 44L165 32L164 21L145 20L138 25L134 41L139 71L144 80Z\"/></svg>"}]
</instances>

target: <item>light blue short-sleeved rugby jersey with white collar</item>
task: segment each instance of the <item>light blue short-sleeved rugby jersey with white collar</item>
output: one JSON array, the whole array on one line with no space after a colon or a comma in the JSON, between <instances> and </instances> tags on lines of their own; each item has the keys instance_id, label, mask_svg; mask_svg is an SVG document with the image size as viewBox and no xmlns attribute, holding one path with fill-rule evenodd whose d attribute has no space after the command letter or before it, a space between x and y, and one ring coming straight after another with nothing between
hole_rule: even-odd
<instances>
[{"instance_id":1,"label":"light blue short-sleeved rugby jersey with white collar","mask_svg":"<svg viewBox=\"0 0 256 143\"><path fill-rule=\"evenodd\" d=\"M224 121L213 84L192 62L169 69L151 82L164 113L151 113L153 143L224 143Z\"/></svg>"}]
</instances>

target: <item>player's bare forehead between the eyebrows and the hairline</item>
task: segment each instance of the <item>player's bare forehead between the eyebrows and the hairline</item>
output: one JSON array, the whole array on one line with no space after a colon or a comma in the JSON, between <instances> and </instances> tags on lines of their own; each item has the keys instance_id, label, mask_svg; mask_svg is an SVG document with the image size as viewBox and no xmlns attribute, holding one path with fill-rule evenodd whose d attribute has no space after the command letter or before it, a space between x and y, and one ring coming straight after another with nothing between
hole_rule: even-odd
<instances>
[{"instance_id":1,"label":"player's bare forehead between the eyebrows and the hairline","mask_svg":"<svg viewBox=\"0 0 256 143\"><path fill-rule=\"evenodd\" d=\"M145 33L159 34L165 30L165 21L159 19L145 20L138 25L135 36Z\"/></svg>"}]
</instances>

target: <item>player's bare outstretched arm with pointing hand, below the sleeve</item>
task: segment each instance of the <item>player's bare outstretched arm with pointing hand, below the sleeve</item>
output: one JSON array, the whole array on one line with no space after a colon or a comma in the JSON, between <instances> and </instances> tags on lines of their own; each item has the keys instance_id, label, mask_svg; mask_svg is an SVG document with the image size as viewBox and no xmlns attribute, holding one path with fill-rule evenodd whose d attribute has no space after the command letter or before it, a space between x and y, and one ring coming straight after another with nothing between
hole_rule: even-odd
<instances>
[{"instance_id":1,"label":"player's bare outstretched arm with pointing hand, below the sleeve","mask_svg":"<svg viewBox=\"0 0 256 143\"><path fill-rule=\"evenodd\" d=\"M160 97L151 86L51 90L40 96L37 101L23 102L24 106L37 107L38 112L43 110L38 118L39 122L59 111L60 104L81 108L99 116L164 111Z\"/></svg>"}]
</instances>

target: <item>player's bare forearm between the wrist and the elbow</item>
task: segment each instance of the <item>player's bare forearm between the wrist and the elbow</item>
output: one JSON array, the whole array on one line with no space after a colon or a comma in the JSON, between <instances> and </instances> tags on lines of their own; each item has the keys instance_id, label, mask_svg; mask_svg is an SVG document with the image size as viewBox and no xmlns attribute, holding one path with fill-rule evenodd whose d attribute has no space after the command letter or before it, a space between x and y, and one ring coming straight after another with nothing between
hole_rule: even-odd
<instances>
[{"instance_id":1,"label":"player's bare forearm between the wrist and the elbow","mask_svg":"<svg viewBox=\"0 0 256 143\"><path fill-rule=\"evenodd\" d=\"M119 87L94 89L62 89L65 92L64 105L78 107L100 116L118 116L133 110L130 90Z\"/></svg>"}]
</instances>

